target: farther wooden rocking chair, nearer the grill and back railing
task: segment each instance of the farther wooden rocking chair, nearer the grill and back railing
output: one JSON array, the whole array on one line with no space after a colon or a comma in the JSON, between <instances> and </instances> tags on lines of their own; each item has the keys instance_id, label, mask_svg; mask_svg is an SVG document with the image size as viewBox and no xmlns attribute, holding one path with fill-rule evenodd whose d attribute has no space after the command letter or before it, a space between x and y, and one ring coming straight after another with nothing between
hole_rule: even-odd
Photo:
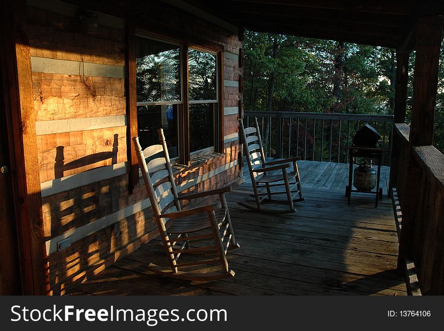
<instances>
[{"instance_id":1,"label":"farther wooden rocking chair, nearer the grill and back railing","mask_svg":"<svg viewBox=\"0 0 444 331\"><path fill-rule=\"evenodd\" d=\"M296 212L294 203L305 200L302 197L301 179L299 177L297 164L297 161L301 158L295 157L266 162L262 139L259 132L259 125L256 118L254 118L254 124L254 127L244 128L243 120L239 119L244 154L247 159L251 183L253 184L254 194L251 196L255 198L256 206L245 202L239 202L239 204L246 208L264 213L286 214ZM287 169L291 167L291 164L293 164L293 171L287 171ZM285 186L285 191L272 192L271 187L274 186ZM265 188L266 192L262 192L262 188ZM295 199L296 194L299 195L299 198L297 199ZM273 195L286 195L286 200L272 199ZM269 203L284 203L288 204L289 208L262 208L262 204Z\"/></svg>"}]
</instances>

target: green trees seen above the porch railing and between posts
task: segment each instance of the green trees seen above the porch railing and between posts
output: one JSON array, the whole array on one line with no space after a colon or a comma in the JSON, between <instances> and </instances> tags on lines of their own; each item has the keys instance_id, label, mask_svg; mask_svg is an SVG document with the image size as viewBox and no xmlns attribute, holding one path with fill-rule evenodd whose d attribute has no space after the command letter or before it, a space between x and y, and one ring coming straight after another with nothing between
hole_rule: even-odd
<instances>
[{"instance_id":1,"label":"green trees seen above the porch railing and between posts","mask_svg":"<svg viewBox=\"0 0 444 331\"><path fill-rule=\"evenodd\" d=\"M246 110L393 114L394 49L246 31L244 51ZM444 43L440 56L434 145L444 151ZM410 62L407 122L414 53Z\"/></svg>"}]
</instances>

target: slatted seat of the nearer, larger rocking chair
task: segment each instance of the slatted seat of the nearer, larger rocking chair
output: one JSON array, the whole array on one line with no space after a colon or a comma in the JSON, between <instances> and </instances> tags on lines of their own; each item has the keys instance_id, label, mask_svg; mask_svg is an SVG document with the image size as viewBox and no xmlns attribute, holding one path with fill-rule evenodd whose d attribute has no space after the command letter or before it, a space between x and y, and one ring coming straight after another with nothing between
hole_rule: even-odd
<instances>
[{"instance_id":1,"label":"slatted seat of the nearer, larger rocking chair","mask_svg":"<svg viewBox=\"0 0 444 331\"><path fill-rule=\"evenodd\" d=\"M217 224L220 226L224 222L227 215L227 210L221 208L215 212ZM196 231L205 230L211 227L211 223L208 219L208 213L200 213L192 216L186 216L171 220L171 226L168 228L170 233L191 233Z\"/></svg>"}]
</instances>

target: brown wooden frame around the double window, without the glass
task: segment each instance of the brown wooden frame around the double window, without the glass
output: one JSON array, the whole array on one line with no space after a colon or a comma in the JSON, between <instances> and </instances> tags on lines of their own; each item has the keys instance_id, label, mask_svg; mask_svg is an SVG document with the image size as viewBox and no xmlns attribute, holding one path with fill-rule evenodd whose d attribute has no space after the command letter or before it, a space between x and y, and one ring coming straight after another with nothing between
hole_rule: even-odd
<instances>
[{"instance_id":1,"label":"brown wooden frame around the double window, without the glass","mask_svg":"<svg viewBox=\"0 0 444 331\"><path fill-rule=\"evenodd\" d=\"M190 36L180 33L172 33L169 35L146 31L140 28L136 28L134 25L129 25L127 29L127 91L128 91L128 104L127 104L127 116L128 116L128 135L130 137L128 149L128 160L131 160L130 169L130 187L133 187L138 181L138 163L133 146L133 137L138 135L137 130L137 106L141 105L155 105L156 102L137 102L136 94L136 36L144 37L148 39L154 39L163 42L169 42L180 46L181 56L181 102L169 102L169 104L177 104L178 111L178 148L179 158L175 158L173 161L185 166L189 166L192 158L196 158L203 154L211 152L223 153L224 152L224 45L214 43L196 36ZM216 56L216 101L192 101L192 103L211 103L217 105L217 109L214 110L214 146L206 149L202 149L196 152L190 153L190 100L189 100L189 70L188 70L188 50L193 49L201 52L207 52ZM157 104L165 104L159 102ZM130 155L131 154L131 155ZM136 175L137 173L137 175Z\"/></svg>"}]
</instances>

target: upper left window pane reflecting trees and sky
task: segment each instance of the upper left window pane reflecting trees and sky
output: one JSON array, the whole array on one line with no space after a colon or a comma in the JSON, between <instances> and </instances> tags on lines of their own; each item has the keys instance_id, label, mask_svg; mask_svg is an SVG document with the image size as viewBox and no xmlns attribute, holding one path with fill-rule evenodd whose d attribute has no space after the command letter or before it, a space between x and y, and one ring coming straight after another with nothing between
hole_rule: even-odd
<instances>
[{"instance_id":1,"label":"upper left window pane reflecting trees and sky","mask_svg":"<svg viewBox=\"0 0 444 331\"><path fill-rule=\"evenodd\" d=\"M136 36L137 102L181 100L180 47Z\"/></svg>"}]
</instances>

